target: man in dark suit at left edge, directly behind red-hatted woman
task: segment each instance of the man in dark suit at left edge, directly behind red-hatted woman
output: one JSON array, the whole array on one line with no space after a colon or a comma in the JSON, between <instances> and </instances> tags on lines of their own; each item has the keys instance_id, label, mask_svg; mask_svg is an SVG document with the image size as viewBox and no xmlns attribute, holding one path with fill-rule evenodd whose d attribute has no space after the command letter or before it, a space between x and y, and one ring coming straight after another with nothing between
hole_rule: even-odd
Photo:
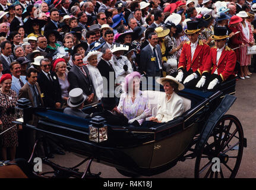
<instances>
[{"instance_id":1,"label":"man in dark suit at left edge, directly behind red-hatted woman","mask_svg":"<svg viewBox=\"0 0 256 190\"><path fill-rule=\"evenodd\" d=\"M11 56L11 42L8 40L5 40L4 42L1 43L0 47L2 52L2 54L0 55L0 62L2 63L2 66L4 68L4 70L2 71L2 74L11 73L10 65L11 65L11 62L13 61Z\"/></svg>"}]
</instances>

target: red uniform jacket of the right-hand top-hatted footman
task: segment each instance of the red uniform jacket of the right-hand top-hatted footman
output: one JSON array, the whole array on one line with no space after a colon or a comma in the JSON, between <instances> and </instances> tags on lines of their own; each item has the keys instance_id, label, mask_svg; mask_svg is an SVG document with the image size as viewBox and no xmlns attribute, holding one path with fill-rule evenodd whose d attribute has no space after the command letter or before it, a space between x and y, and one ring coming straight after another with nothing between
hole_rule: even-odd
<instances>
[{"instance_id":1,"label":"red uniform jacket of the right-hand top-hatted footman","mask_svg":"<svg viewBox=\"0 0 256 190\"><path fill-rule=\"evenodd\" d=\"M211 47L210 54L208 55L206 64L204 64L204 72L210 72L211 74L217 68L218 75L222 78L222 81L227 80L230 75L235 75L234 69L236 66L235 52L228 46L225 47L220 55L219 64L216 64L217 47Z\"/></svg>"}]
</instances>

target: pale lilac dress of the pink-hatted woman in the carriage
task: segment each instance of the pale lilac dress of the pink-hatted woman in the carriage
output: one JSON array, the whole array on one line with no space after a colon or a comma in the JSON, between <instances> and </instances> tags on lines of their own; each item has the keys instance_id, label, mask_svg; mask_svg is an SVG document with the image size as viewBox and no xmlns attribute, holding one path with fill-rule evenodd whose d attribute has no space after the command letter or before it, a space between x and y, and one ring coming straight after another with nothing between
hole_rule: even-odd
<instances>
[{"instance_id":1,"label":"pale lilac dress of the pink-hatted woman in the carriage","mask_svg":"<svg viewBox=\"0 0 256 190\"><path fill-rule=\"evenodd\" d=\"M134 103L132 103L131 97L128 97L127 93L121 94L118 110L129 120L138 118L136 120L140 125L151 115L150 103L147 96L143 96L142 91L138 91Z\"/></svg>"}]
</instances>

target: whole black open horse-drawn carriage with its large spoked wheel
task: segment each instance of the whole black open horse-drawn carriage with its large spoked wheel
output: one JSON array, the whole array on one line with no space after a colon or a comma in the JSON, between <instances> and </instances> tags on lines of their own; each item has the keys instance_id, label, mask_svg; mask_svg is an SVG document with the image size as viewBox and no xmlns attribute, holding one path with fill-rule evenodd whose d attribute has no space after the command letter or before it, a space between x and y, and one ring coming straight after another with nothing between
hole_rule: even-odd
<instances>
[{"instance_id":1,"label":"whole black open horse-drawn carriage with its large spoked wheel","mask_svg":"<svg viewBox=\"0 0 256 190\"><path fill-rule=\"evenodd\" d=\"M93 160L115 167L125 176L152 176L169 170L179 161L194 158L195 178L234 178L246 139L239 120L233 115L225 115L236 100L235 96L230 95L235 93L235 84L225 85L225 90L215 92L180 91L185 112L155 128L112 126L100 117L83 119L66 115L62 110L28 107L23 99L19 100L17 107L23 119L16 123L23 125L23 128L43 132L63 145L65 150L84 157L83 162L72 168L43 159L55 170L55 178L98 178L100 173L90 172ZM159 93L164 92L145 93L154 110ZM83 109L88 114L100 110L101 105ZM37 126L29 124L33 115L39 117ZM212 167L214 160L220 163L216 170ZM77 167L85 162L86 171L79 172Z\"/></svg>"}]
</instances>

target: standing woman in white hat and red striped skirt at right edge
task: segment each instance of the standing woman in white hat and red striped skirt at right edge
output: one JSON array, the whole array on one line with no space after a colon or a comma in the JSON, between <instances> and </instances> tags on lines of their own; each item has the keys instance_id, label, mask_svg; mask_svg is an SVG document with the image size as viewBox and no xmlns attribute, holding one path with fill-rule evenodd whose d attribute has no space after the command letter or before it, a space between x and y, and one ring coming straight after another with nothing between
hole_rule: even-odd
<instances>
[{"instance_id":1,"label":"standing woman in white hat and red striped skirt at right edge","mask_svg":"<svg viewBox=\"0 0 256 190\"><path fill-rule=\"evenodd\" d=\"M251 65L251 55L246 55L248 46L254 45L254 36L252 34L251 25L246 18L248 14L245 11L240 11L236 14L238 17L242 18L241 23L238 25L238 30L240 31L239 37L244 43L244 46L240 46L241 56L239 59L240 62L240 73L239 77L241 79L250 78L249 75L251 74L248 69L248 65Z\"/></svg>"}]
</instances>

